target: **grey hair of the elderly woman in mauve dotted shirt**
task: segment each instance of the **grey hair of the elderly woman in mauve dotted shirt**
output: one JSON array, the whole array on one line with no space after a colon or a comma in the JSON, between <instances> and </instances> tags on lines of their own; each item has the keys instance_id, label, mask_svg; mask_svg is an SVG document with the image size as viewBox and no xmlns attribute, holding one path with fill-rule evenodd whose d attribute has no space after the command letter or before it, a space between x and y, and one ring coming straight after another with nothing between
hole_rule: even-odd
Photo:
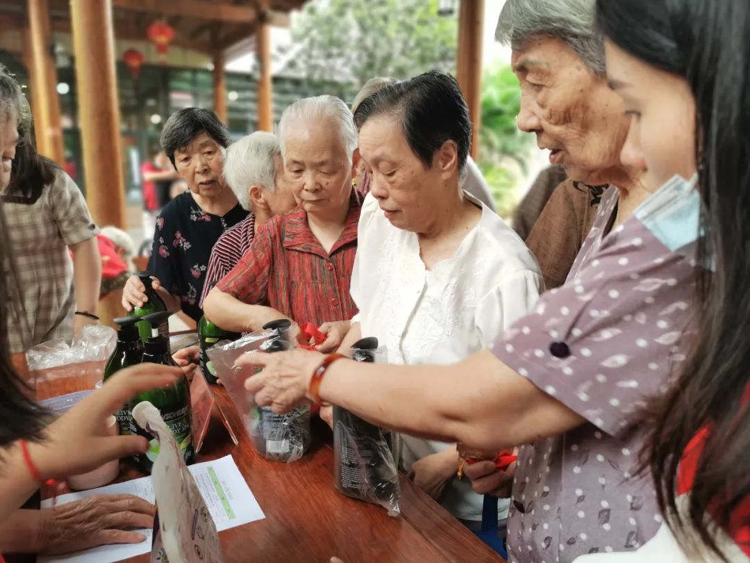
<instances>
[{"instance_id":1,"label":"grey hair of the elderly woman in mauve dotted shirt","mask_svg":"<svg viewBox=\"0 0 750 563\"><path fill-rule=\"evenodd\" d=\"M592 71L604 74L604 41L596 32L595 0L508 0L495 39L522 49L535 36L565 41Z\"/></svg>"}]
</instances>

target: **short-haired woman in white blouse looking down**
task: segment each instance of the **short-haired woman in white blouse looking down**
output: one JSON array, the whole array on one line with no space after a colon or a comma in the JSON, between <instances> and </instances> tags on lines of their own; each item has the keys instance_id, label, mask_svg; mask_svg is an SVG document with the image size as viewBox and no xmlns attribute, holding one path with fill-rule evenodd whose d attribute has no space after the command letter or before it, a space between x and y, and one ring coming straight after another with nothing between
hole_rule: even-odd
<instances>
[{"instance_id":1,"label":"short-haired woman in white blouse looking down","mask_svg":"<svg viewBox=\"0 0 750 563\"><path fill-rule=\"evenodd\" d=\"M389 363L402 364L455 363L487 348L529 312L543 281L513 230L459 188L471 123L458 83L428 73L388 86L355 119L372 183L351 284L359 315L341 348L376 336ZM481 520L481 496L455 479L455 444L399 442L416 484L458 518Z\"/></svg>"}]
</instances>

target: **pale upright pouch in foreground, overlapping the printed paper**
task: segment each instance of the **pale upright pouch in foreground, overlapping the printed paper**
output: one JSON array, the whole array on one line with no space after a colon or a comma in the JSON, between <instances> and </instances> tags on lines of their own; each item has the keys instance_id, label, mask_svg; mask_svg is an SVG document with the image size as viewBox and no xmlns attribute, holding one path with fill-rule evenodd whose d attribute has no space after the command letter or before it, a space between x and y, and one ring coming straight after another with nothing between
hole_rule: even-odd
<instances>
[{"instance_id":1,"label":"pale upright pouch in foreground, overlapping the printed paper","mask_svg":"<svg viewBox=\"0 0 750 563\"><path fill-rule=\"evenodd\" d=\"M175 435L150 402L133 408L133 420L159 441L160 448L151 468L156 496L151 563L222 563L216 524L187 471Z\"/></svg>"}]
</instances>

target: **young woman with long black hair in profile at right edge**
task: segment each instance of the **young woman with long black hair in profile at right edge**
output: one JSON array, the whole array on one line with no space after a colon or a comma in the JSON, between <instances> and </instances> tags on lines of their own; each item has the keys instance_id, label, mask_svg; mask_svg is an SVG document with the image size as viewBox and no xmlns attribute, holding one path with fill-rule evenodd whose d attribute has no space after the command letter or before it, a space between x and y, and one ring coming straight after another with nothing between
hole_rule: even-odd
<instances>
[{"instance_id":1,"label":"young woman with long black hair in profile at right edge","mask_svg":"<svg viewBox=\"0 0 750 563\"><path fill-rule=\"evenodd\" d=\"M632 120L622 160L644 164L657 183L697 173L703 206L698 228L704 236L696 259L711 266L699 270L691 354L670 390L648 409L644 465L675 534L660 532L633 556L745 561L750 342L742 328L750 318L750 5L597 0L597 20L607 38L610 84Z\"/></svg>"}]
</instances>

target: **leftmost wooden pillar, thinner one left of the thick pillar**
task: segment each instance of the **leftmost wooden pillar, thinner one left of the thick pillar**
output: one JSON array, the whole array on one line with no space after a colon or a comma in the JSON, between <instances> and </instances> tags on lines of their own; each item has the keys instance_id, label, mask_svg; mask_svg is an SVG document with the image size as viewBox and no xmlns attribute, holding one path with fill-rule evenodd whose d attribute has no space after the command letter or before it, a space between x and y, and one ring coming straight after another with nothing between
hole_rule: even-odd
<instances>
[{"instance_id":1,"label":"leftmost wooden pillar, thinner one left of the thick pillar","mask_svg":"<svg viewBox=\"0 0 750 563\"><path fill-rule=\"evenodd\" d=\"M31 92L39 152L58 164L65 161L60 126L57 71L52 58L52 26L47 0L28 0L28 43L31 47Z\"/></svg>"}]
</instances>

